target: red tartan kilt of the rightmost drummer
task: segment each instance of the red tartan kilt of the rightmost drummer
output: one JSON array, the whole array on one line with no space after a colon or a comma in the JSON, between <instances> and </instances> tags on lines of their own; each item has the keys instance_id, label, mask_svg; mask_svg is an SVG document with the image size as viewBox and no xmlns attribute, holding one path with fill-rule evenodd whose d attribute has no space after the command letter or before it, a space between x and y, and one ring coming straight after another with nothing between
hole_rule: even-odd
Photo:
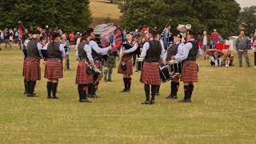
<instances>
[{"instance_id":1,"label":"red tartan kilt of the rightmost drummer","mask_svg":"<svg viewBox=\"0 0 256 144\"><path fill-rule=\"evenodd\" d=\"M185 61L182 66L182 82L198 82L198 64L195 61Z\"/></svg>"}]
</instances>

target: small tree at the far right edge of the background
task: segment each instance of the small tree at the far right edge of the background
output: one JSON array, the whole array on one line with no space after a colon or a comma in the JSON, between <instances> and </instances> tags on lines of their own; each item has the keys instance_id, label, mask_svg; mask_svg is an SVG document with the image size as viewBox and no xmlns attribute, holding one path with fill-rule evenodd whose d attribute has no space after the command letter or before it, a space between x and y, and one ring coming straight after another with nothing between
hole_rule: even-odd
<instances>
[{"instance_id":1,"label":"small tree at the far right edge of the background","mask_svg":"<svg viewBox=\"0 0 256 144\"><path fill-rule=\"evenodd\" d=\"M246 34L253 34L256 29L256 6L245 7L239 16L240 27Z\"/></svg>"}]
</instances>

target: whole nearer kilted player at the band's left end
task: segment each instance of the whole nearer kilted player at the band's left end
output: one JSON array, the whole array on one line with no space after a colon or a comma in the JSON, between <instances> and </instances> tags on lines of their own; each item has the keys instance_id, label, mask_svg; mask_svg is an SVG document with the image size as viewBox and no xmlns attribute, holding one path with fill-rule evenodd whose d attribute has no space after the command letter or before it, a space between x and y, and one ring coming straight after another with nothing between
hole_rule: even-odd
<instances>
[{"instance_id":1,"label":"whole nearer kilted player at the band's left end","mask_svg":"<svg viewBox=\"0 0 256 144\"><path fill-rule=\"evenodd\" d=\"M40 50L42 50L42 44L39 42L40 34L40 31L34 30L32 32L32 38L27 43L27 58L24 66L27 97L35 96L34 86L36 85L36 82L41 79Z\"/></svg>"}]
</instances>

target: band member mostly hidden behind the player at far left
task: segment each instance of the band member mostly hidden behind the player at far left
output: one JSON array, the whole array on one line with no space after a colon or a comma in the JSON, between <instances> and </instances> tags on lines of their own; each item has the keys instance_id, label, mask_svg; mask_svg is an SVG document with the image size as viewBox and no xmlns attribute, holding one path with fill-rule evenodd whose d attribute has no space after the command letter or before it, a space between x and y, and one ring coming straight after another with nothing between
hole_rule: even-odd
<instances>
[{"instance_id":1,"label":"band member mostly hidden behind the player at far left","mask_svg":"<svg viewBox=\"0 0 256 144\"><path fill-rule=\"evenodd\" d=\"M26 58L27 58L27 45L30 42L30 39L32 38L32 30L27 30L28 33L28 38L25 40L25 42L23 42L23 47L22 47L22 52L23 52L23 71L22 71L22 76L24 77L26 74ZM24 77L24 88L25 88L25 92L24 94L27 94L26 91L26 86L27 86L27 82L26 82L26 78Z\"/></svg>"}]
</instances>

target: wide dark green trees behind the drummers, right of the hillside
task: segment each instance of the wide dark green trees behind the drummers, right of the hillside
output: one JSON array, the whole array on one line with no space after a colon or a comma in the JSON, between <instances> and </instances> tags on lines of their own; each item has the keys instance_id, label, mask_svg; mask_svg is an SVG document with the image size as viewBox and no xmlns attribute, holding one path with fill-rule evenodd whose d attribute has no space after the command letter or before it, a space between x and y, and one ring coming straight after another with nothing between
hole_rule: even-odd
<instances>
[{"instance_id":1,"label":"wide dark green trees behind the drummers, right of the hillside","mask_svg":"<svg viewBox=\"0 0 256 144\"><path fill-rule=\"evenodd\" d=\"M227 38L238 30L240 10L235 0L127 0L122 23L128 30L148 25L163 28L190 23L201 34L203 30L218 29Z\"/></svg>"}]
</instances>

